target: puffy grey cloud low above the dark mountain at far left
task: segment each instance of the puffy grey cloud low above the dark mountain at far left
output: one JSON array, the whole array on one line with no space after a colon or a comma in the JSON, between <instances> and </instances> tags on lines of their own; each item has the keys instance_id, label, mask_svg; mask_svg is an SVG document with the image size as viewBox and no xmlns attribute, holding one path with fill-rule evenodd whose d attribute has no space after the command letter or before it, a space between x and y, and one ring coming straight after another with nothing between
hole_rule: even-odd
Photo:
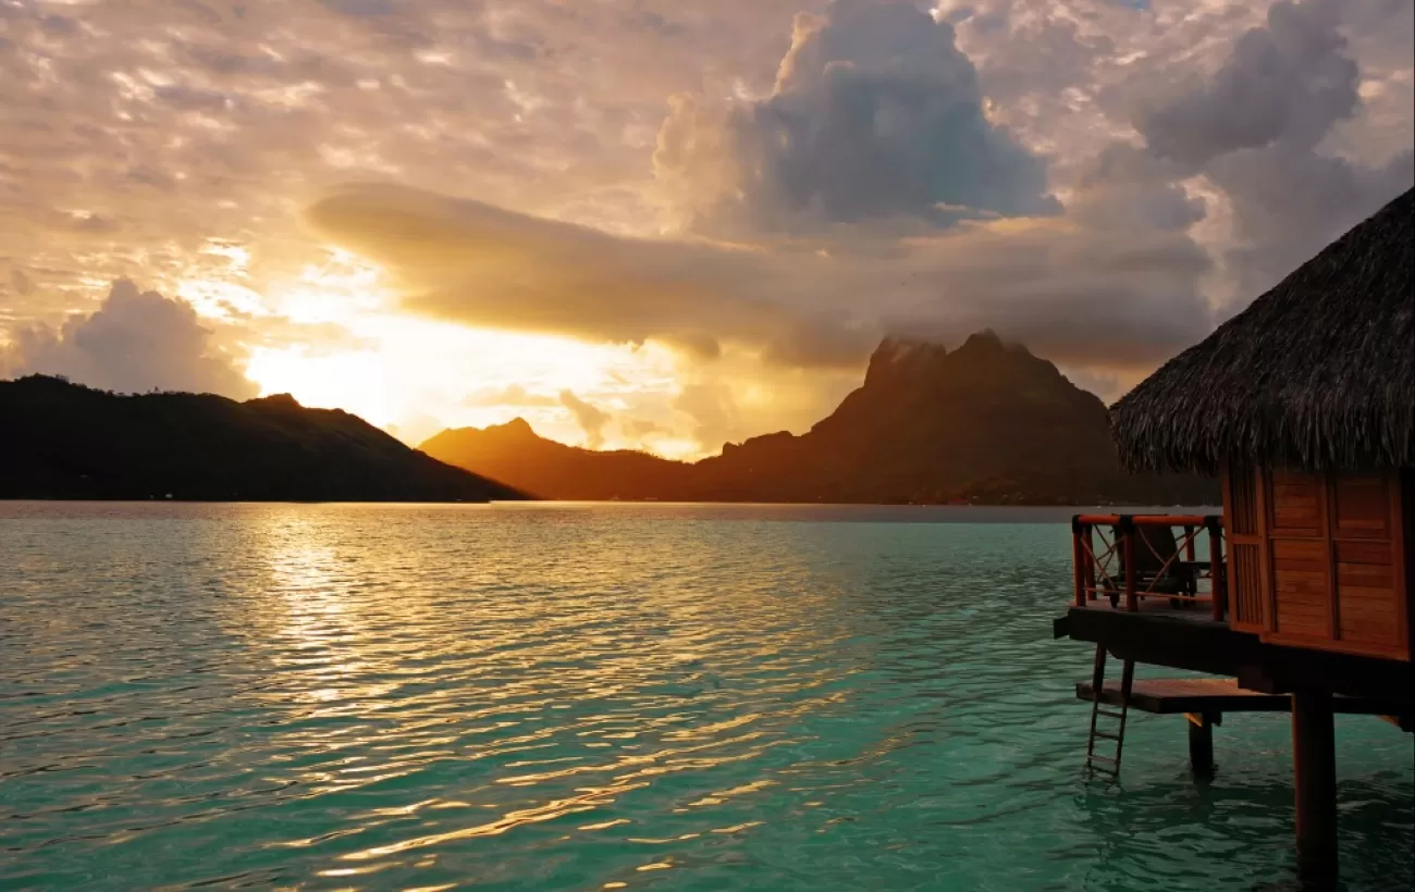
<instances>
[{"instance_id":1,"label":"puffy grey cloud low above the dark mountain at far left","mask_svg":"<svg viewBox=\"0 0 1415 892\"><path fill-rule=\"evenodd\" d=\"M211 331L183 301L115 281L96 312L58 331L21 329L6 365L11 375L65 375L123 393L190 390L249 399L256 386L211 346Z\"/></svg>"}]
</instances>

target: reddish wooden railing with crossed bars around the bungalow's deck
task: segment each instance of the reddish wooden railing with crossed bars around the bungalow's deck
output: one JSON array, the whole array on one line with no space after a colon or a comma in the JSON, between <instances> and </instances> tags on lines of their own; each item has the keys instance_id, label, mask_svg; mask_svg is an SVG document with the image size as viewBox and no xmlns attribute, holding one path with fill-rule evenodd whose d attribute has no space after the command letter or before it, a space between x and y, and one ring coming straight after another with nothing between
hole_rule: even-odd
<instances>
[{"instance_id":1,"label":"reddish wooden railing with crossed bars around the bungalow's deck","mask_svg":"<svg viewBox=\"0 0 1415 892\"><path fill-rule=\"evenodd\" d=\"M1170 537L1176 546L1172 554ZM1204 560L1196 547L1201 537L1208 544ZM1077 515L1071 519L1071 554L1077 606L1108 598L1119 608L1124 598L1125 609L1135 612L1140 598L1166 598L1174 606L1207 604L1220 622L1228 612L1220 516Z\"/></svg>"}]
</instances>

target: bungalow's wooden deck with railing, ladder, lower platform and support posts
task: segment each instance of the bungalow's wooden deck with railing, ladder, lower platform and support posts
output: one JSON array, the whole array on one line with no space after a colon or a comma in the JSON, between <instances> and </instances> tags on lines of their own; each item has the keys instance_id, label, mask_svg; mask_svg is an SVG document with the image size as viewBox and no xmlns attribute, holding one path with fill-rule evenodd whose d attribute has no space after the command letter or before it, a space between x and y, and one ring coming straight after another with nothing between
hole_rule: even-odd
<instances>
[{"instance_id":1,"label":"bungalow's wooden deck with railing, ladder, lower platform and support posts","mask_svg":"<svg viewBox=\"0 0 1415 892\"><path fill-rule=\"evenodd\" d=\"M1176 529L1182 530L1177 536ZM1087 768L1119 776L1131 708L1187 718L1197 776L1213 772L1213 728L1224 712L1290 711L1299 872L1319 882L1332 879L1332 717L1373 714L1405 731L1415 728L1411 662L1337 640L1313 647L1235 622L1223 517L1080 515L1071 530L1074 598L1053 622L1053 635L1095 646L1091 681L1077 684L1077 697L1091 703ZM1207 554L1199 554L1204 539ZM1240 564L1238 573L1248 571ZM1240 595L1252 591L1251 574L1244 580L1248 588ZM1105 679L1112 656L1124 666L1118 683ZM1138 663L1224 677L1136 680ZM1105 744L1114 746L1109 755L1101 752Z\"/></svg>"}]
</instances>

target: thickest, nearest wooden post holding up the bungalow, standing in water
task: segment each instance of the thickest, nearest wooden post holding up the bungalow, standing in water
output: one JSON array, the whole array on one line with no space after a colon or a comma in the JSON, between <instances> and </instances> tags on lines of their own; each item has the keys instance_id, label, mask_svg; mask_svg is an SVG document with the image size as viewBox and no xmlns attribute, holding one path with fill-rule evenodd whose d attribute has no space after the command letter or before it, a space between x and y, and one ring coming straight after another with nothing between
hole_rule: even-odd
<instances>
[{"instance_id":1,"label":"thickest, nearest wooden post holding up the bungalow, standing in water","mask_svg":"<svg viewBox=\"0 0 1415 892\"><path fill-rule=\"evenodd\" d=\"M1336 741L1332 694L1292 693L1292 768L1298 806L1298 878L1305 886L1336 884Z\"/></svg>"}]
</instances>

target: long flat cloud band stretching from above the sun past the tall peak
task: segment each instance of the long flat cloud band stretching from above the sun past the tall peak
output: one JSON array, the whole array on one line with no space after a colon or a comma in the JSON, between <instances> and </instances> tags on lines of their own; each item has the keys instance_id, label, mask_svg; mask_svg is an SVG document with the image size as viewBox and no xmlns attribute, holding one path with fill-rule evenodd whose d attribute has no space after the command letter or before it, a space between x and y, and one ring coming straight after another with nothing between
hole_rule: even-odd
<instances>
[{"instance_id":1,"label":"long flat cloud band stretching from above the sun past the tall peak","mask_svg":"<svg viewBox=\"0 0 1415 892\"><path fill-rule=\"evenodd\" d=\"M1182 232L1064 221L971 223L889 252L633 239L396 187L308 209L327 237L395 270L403 307L484 328L730 344L795 368L856 368L883 334L981 328L1053 359L1155 362L1207 332L1208 256Z\"/></svg>"}]
</instances>

